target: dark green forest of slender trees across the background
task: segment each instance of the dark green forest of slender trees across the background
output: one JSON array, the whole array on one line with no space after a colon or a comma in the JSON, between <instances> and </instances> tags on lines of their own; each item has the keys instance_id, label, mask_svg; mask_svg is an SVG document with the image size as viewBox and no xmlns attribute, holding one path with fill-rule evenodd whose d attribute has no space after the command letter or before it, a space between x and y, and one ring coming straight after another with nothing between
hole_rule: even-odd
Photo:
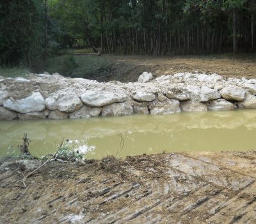
<instances>
[{"instance_id":1,"label":"dark green forest of slender trees across the background","mask_svg":"<svg viewBox=\"0 0 256 224\"><path fill-rule=\"evenodd\" d=\"M0 65L63 49L121 54L255 52L255 0L2 0Z\"/></svg>"}]
</instances>

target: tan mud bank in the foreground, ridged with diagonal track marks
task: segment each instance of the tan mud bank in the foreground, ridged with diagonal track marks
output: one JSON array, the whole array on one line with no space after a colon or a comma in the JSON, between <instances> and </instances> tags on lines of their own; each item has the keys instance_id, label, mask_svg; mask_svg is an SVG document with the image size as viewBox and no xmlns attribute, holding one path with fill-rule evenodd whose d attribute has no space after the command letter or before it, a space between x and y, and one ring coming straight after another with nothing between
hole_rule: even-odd
<instances>
[{"instance_id":1,"label":"tan mud bank in the foreground, ridged with diagonal track marks","mask_svg":"<svg viewBox=\"0 0 256 224\"><path fill-rule=\"evenodd\" d=\"M33 167L33 165L35 165ZM255 223L256 152L6 161L0 223Z\"/></svg>"}]
</instances>

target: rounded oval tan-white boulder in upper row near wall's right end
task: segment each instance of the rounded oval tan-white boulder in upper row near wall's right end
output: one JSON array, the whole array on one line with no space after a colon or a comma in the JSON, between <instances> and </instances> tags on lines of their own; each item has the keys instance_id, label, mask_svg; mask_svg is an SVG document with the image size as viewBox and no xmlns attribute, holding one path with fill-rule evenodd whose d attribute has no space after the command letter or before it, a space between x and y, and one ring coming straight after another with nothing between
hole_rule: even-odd
<instances>
[{"instance_id":1,"label":"rounded oval tan-white boulder in upper row near wall's right end","mask_svg":"<svg viewBox=\"0 0 256 224\"><path fill-rule=\"evenodd\" d=\"M226 100L243 101L245 98L245 90L239 86L227 86L220 90L221 96Z\"/></svg>"}]
</instances>

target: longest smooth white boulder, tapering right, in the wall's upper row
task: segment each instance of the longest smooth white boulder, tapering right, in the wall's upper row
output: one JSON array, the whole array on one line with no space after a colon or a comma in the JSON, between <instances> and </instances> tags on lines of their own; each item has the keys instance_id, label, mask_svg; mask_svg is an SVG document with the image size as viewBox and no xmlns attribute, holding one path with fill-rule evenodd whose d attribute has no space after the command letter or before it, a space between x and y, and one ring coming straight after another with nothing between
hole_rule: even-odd
<instances>
[{"instance_id":1,"label":"longest smooth white boulder, tapering right, in the wall's upper row","mask_svg":"<svg viewBox=\"0 0 256 224\"><path fill-rule=\"evenodd\" d=\"M127 99L124 93L117 94L112 92L88 90L81 95L84 104L92 107L102 107L114 102L124 102Z\"/></svg>"}]
</instances>

